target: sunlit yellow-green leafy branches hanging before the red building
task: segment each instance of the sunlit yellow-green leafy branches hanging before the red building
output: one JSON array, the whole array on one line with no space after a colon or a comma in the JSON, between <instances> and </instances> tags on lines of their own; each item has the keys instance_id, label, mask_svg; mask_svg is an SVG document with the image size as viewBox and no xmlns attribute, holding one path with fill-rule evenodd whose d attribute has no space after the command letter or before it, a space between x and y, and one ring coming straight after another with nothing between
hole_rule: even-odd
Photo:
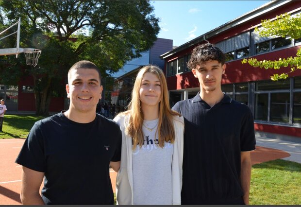
<instances>
[{"instance_id":1,"label":"sunlit yellow-green leafy branches hanging before the red building","mask_svg":"<svg viewBox=\"0 0 301 207\"><path fill-rule=\"evenodd\" d=\"M277 16L275 20L265 19L261 21L262 28L255 28L260 36L289 36L290 38L301 38L301 15L291 17L285 13ZM290 67L290 71L287 73L274 74L271 76L271 80L277 81L279 79L286 79L288 73L294 72L296 69L301 69L301 49L297 51L295 57L279 58L279 60L262 60L258 61L256 58L243 59L242 63L249 63L253 67L259 67L264 69L280 69L281 67Z\"/></svg>"}]
</instances>

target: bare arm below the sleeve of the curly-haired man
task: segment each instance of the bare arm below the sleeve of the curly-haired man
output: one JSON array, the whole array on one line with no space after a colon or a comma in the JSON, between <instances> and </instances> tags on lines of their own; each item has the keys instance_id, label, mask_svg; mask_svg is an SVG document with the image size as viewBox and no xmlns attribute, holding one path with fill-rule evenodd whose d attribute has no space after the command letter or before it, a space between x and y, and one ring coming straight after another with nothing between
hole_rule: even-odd
<instances>
[{"instance_id":1,"label":"bare arm below the sleeve of the curly-haired man","mask_svg":"<svg viewBox=\"0 0 301 207\"><path fill-rule=\"evenodd\" d=\"M249 192L251 182L251 152L240 153L240 183L244 192L244 202L249 205Z\"/></svg>"}]
</instances>

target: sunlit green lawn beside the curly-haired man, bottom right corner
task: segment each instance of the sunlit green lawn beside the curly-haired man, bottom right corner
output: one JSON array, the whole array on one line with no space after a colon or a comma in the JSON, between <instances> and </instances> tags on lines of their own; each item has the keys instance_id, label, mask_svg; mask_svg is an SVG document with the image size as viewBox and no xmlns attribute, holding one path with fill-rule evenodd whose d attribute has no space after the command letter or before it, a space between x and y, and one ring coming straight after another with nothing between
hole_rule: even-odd
<instances>
[{"instance_id":1,"label":"sunlit green lawn beside the curly-haired man, bottom right corner","mask_svg":"<svg viewBox=\"0 0 301 207\"><path fill-rule=\"evenodd\" d=\"M250 205L300 205L301 164L277 159L252 166Z\"/></svg>"}]
</instances>

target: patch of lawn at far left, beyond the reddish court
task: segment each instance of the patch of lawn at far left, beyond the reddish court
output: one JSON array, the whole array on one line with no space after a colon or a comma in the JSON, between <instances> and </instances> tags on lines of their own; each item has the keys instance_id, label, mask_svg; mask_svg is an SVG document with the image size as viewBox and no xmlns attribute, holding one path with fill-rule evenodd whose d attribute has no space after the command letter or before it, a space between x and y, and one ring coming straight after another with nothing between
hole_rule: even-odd
<instances>
[{"instance_id":1,"label":"patch of lawn at far left, beyond the reddish court","mask_svg":"<svg viewBox=\"0 0 301 207\"><path fill-rule=\"evenodd\" d=\"M34 115L5 115L0 139L26 138L34 122L43 118Z\"/></svg>"}]
</instances>

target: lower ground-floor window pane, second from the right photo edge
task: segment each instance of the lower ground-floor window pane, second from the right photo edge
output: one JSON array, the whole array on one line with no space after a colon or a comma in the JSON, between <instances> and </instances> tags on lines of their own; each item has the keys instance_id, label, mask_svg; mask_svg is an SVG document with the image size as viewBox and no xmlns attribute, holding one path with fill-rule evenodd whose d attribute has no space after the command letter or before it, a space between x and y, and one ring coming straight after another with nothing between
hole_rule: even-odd
<instances>
[{"instance_id":1,"label":"lower ground-floor window pane, second from the right photo edge","mask_svg":"<svg viewBox=\"0 0 301 207\"><path fill-rule=\"evenodd\" d=\"M289 93L271 94L270 121L289 122Z\"/></svg>"}]
</instances>

